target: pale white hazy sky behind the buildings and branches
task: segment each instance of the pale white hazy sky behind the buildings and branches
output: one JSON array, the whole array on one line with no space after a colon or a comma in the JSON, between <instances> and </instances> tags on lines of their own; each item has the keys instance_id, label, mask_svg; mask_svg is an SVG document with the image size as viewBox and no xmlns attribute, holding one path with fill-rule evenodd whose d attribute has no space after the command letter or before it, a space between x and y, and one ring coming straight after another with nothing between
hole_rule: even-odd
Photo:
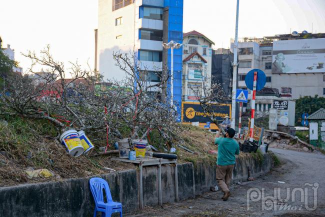
<instances>
[{"instance_id":1,"label":"pale white hazy sky behind the buildings and branches","mask_svg":"<svg viewBox=\"0 0 325 217\"><path fill-rule=\"evenodd\" d=\"M47 44L56 60L94 66L97 0L1 0L0 37L27 72L30 61L20 53L39 52ZM230 47L234 38L236 0L184 0L183 31L196 30ZM270 36L307 30L325 32L325 0L239 0L238 37Z\"/></svg>"}]
</instances>

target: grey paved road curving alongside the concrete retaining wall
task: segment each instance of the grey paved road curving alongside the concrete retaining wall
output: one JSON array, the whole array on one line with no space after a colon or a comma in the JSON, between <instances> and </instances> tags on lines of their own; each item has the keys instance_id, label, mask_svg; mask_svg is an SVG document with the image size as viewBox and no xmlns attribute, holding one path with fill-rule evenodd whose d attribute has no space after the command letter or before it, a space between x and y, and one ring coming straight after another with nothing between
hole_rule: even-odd
<instances>
[{"instance_id":1,"label":"grey paved road curving alongside the concrete retaining wall","mask_svg":"<svg viewBox=\"0 0 325 217\"><path fill-rule=\"evenodd\" d=\"M164 204L163 207L145 207L141 212L126 216L325 216L325 155L271 150L281 159L282 166L254 181L233 185L228 201L220 199L220 191L209 192L195 199ZM294 188L295 201L292 201ZM302 198L299 190L304 194ZM317 195L314 196L313 192ZM276 194L281 196L276 197ZM314 202L316 209L311 210Z\"/></svg>"}]
</instances>

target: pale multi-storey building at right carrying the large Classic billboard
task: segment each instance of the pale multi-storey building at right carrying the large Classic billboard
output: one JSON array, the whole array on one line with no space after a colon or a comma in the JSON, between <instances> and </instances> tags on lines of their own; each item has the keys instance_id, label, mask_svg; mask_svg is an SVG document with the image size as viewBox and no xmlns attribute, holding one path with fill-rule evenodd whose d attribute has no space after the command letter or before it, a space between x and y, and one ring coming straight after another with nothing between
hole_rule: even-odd
<instances>
[{"instance_id":1,"label":"pale multi-storey building at right carrying the large Classic billboard","mask_svg":"<svg viewBox=\"0 0 325 217\"><path fill-rule=\"evenodd\" d=\"M274 50L274 44L282 44L281 50ZM253 68L261 69L266 74L266 88L278 89L280 99L297 99L300 96L325 95L325 69L323 54L325 33L293 31L291 34L278 34L261 38L244 37L238 40L238 88L245 89L245 75ZM233 43L231 43L233 51ZM274 72L274 60L277 53L286 56L285 64L290 64L294 71L289 73ZM298 53L300 52L300 54ZM307 54L302 56L303 54ZM319 54L318 54L319 53ZM296 55L294 58L288 55ZM315 60L314 60L315 59ZM252 91L248 91L251 99ZM262 96L260 96L262 97ZM261 99L259 97L259 99ZM257 98L256 98L257 100ZM270 103L259 103L267 110ZM265 105L266 104L266 105ZM255 104L257 105L257 103ZM263 109L265 105L265 109ZM248 105L249 106L249 105Z\"/></svg>"}]
</instances>

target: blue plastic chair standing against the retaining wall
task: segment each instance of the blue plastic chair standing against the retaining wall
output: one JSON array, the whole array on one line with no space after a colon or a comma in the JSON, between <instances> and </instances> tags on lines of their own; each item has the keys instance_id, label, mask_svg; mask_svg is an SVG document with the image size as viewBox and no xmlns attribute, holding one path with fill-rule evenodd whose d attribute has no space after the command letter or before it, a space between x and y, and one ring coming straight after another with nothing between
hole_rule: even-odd
<instances>
[{"instance_id":1,"label":"blue plastic chair standing against the retaining wall","mask_svg":"<svg viewBox=\"0 0 325 217\"><path fill-rule=\"evenodd\" d=\"M119 216L122 217L122 203L112 200L107 181L102 178L90 178L89 184L93 199L95 200L93 217L96 217L97 211L101 212L101 217L110 217L115 212L119 212ZM106 193L106 202L104 201L103 189Z\"/></svg>"}]
</instances>

